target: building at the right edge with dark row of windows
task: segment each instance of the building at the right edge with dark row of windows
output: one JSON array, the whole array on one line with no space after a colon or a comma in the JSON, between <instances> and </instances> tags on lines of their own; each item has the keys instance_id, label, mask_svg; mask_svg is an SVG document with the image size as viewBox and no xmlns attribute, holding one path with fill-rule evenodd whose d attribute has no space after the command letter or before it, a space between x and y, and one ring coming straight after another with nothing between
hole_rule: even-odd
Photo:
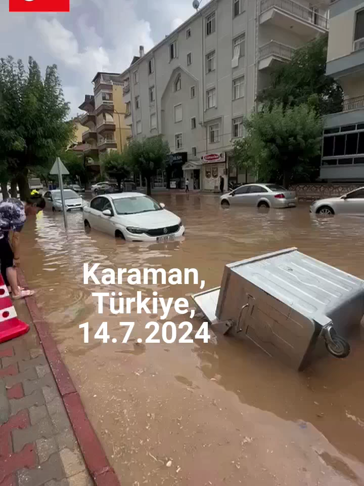
<instances>
[{"instance_id":1,"label":"building at the right edge with dark row of windows","mask_svg":"<svg viewBox=\"0 0 364 486\"><path fill-rule=\"evenodd\" d=\"M325 119L320 177L364 182L364 2L330 6L327 74L344 91L343 110Z\"/></svg>"}]
</instances>

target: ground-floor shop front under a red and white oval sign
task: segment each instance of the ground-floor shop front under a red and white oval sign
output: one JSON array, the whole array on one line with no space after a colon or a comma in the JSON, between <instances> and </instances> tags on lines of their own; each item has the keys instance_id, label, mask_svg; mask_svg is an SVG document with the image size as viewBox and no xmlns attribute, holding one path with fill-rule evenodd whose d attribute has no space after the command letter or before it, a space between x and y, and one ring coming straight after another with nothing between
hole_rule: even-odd
<instances>
[{"instance_id":1,"label":"ground-floor shop front under a red and white oval sign","mask_svg":"<svg viewBox=\"0 0 364 486\"><path fill-rule=\"evenodd\" d=\"M206 153L201 157L202 189L204 191L220 191L220 177L223 178L223 189L228 188L228 170L226 168L226 154Z\"/></svg>"}]
</instances>

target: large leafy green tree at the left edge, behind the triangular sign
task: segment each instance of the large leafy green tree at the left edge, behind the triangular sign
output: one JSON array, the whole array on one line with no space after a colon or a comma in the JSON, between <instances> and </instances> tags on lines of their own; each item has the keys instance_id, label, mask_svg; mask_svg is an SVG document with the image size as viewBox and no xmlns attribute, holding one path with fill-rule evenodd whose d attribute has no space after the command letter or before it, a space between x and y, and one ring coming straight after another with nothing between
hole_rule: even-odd
<instances>
[{"instance_id":1,"label":"large leafy green tree at the left edge, behind the triangular sign","mask_svg":"<svg viewBox=\"0 0 364 486\"><path fill-rule=\"evenodd\" d=\"M68 113L56 65L42 78L31 57L27 70L20 60L0 59L0 163L10 167L22 199L29 171L50 164L73 138Z\"/></svg>"}]
</instances>

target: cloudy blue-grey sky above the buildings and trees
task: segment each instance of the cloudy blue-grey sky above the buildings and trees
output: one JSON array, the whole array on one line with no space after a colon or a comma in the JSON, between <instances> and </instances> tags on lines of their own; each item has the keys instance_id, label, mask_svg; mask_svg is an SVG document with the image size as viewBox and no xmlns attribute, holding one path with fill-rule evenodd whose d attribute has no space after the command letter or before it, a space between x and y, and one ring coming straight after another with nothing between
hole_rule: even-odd
<instances>
[{"instance_id":1,"label":"cloudy blue-grey sky above the buildings and trees","mask_svg":"<svg viewBox=\"0 0 364 486\"><path fill-rule=\"evenodd\" d=\"M123 71L194 12L192 0L71 0L70 13L23 14L0 0L0 57L57 64L75 115L97 71Z\"/></svg>"}]
</instances>

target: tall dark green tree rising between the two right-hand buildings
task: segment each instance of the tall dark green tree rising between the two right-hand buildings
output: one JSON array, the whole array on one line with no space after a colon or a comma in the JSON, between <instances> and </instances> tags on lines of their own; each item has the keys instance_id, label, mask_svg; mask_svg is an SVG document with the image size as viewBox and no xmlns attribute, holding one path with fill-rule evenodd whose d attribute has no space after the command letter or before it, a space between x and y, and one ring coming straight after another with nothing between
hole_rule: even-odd
<instances>
[{"instance_id":1,"label":"tall dark green tree rising between the two right-hand buildings","mask_svg":"<svg viewBox=\"0 0 364 486\"><path fill-rule=\"evenodd\" d=\"M327 35L314 39L297 49L291 62L272 72L269 87L257 96L263 110L277 103L284 107L307 103L321 115L342 110L342 88L326 75L327 44Z\"/></svg>"}]
</instances>

